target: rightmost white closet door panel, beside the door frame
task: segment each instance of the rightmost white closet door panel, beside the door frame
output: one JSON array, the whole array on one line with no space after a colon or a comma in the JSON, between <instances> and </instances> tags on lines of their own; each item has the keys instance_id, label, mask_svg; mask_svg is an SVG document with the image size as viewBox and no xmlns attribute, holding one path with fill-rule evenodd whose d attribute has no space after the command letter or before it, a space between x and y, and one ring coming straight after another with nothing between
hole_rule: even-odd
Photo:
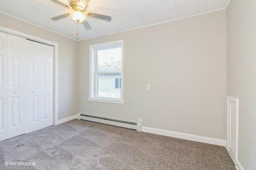
<instances>
[{"instance_id":1,"label":"rightmost white closet door panel, beside the door frame","mask_svg":"<svg viewBox=\"0 0 256 170\"><path fill-rule=\"evenodd\" d=\"M41 45L42 47L42 113L41 128L53 125L53 57L54 47Z\"/></svg>"}]
</instances>

